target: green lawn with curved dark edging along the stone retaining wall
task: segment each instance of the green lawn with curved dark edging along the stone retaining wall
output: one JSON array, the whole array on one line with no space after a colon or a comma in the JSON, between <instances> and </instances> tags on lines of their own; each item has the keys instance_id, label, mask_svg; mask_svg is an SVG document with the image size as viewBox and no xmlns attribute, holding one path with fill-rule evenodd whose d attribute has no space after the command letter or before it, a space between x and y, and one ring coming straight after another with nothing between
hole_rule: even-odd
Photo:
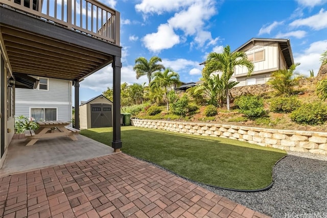
<instances>
[{"instance_id":1,"label":"green lawn with curved dark edging along the stone retaining wall","mask_svg":"<svg viewBox=\"0 0 327 218\"><path fill-rule=\"evenodd\" d=\"M111 146L112 128L82 130ZM272 181L272 166L285 151L238 140L168 131L122 127L122 152L139 157L185 178L236 189L259 189Z\"/></svg>"}]
</instances>

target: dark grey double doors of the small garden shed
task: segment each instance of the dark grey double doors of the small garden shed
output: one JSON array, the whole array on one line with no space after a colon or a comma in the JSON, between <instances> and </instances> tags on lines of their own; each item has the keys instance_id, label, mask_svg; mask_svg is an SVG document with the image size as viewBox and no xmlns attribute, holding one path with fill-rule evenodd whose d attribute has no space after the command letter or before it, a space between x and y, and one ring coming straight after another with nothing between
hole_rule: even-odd
<instances>
[{"instance_id":1,"label":"dark grey double doors of the small garden shed","mask_svg":"<svg viewBox=\"0 0 327 218\"><path fill-rule=\"evenodd\" d=\"M112 127L112 105L91 104L91 128Z\"/></svg>"}]
</instances>

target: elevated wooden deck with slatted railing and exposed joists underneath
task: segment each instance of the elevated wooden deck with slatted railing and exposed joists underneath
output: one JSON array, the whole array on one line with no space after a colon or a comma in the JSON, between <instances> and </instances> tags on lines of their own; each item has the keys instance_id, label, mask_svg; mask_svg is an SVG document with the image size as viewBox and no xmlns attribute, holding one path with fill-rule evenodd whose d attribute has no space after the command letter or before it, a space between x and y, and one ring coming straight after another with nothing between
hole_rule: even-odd
<instances>
[{"instance_id":1,"label":"elevated wooden deck with slatted railing and exposed joists underneath","mask_svg":"<svg viewBox=\"0 0 327 218\"><path fill-rule=\"evenodd\" d=\"M81 81L121 57L120 13L94 0L0 0L0 31L20 74Z\"/></svg>"}]
</instances>

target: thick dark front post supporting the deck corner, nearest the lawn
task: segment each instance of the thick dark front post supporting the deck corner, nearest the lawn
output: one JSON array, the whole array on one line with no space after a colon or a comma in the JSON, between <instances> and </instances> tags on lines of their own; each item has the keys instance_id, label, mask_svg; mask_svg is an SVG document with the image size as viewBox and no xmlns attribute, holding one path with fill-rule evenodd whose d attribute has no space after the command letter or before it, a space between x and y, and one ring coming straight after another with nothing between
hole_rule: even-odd
<instances>
[{"instance_id":1,"label":"thick dark front post supporting the deck corner, nearest the lawn","mask_svg":"<svg viewBox=\"0 0 327 218\"><path fill-rule=\"evenodd\" d=\"M114 56L113 68L113 137L111 147L114 152L120 152L121 140L121 57Z\"/></svg>"}]
</instances>

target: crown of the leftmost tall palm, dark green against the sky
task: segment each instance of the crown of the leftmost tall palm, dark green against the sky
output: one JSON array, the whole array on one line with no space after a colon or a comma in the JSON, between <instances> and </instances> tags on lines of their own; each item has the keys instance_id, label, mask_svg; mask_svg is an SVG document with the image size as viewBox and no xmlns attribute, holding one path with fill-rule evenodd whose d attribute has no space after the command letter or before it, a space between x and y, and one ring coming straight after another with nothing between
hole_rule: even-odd
<instances>
[{"instance_id":1,"label":"crown of the leftmost tall palm, dark green against the sky","mask_svg":"<svg viewBox=\"0 0 327 218\"><path fill-rule=\"evenodd\" d=\"M153 77L153 72L160 71L161 69L165 69L165 66L159 64L161 62L161 58L154 56L150 58L150 61L144 57L139 57L135 60L135 65L133 70L136 72L136 79L147 76L149 80L149 84L151 83L151 79Z\"/></svg>"}]
</instances>

